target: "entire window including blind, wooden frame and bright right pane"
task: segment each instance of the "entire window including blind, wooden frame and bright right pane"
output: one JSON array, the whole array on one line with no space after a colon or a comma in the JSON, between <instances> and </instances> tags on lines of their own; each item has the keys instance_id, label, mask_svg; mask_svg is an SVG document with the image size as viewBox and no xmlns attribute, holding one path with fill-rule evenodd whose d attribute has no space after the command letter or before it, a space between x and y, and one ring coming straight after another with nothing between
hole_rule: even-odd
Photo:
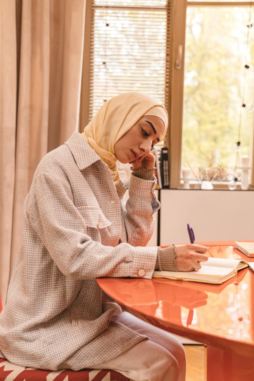
<instances>
[{"instance_id":1,"label":"entire window including blind, wooden frame and bright right pane","mask_svg":"<svg viewBox=\"0 0 254 381\"><path fill-rule=\"evenodd\" d=\"M181 167L252 165L254 12L252 2L87 0L80 130L109 98L145 91L169 114L170 188ZM247 48L247 34L248 48ZM244 65L248 63L249 69ZM246 107L241 107L242 103ZM251 174L254 181L254 171ZM227 184L219 184L227 187Z\"/></svg>"}]
</instances>

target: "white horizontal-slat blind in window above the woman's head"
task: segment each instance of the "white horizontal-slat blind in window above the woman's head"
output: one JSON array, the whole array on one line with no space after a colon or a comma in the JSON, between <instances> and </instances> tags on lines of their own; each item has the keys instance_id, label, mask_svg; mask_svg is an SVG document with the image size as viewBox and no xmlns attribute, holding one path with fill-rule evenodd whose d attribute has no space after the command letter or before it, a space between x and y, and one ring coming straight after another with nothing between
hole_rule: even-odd
<instances>
[{"instance_id":1,"label":"white horizontal-slat blind in window above the woman's head","mask_svg":"<svg viewBox=\"0 0 254 381\"><path fill-rule=\"evenodd\" d=\"M168 106L171 2L92 2L89 120L108 99L144 91Z\"/></svg>"}]
</instances>

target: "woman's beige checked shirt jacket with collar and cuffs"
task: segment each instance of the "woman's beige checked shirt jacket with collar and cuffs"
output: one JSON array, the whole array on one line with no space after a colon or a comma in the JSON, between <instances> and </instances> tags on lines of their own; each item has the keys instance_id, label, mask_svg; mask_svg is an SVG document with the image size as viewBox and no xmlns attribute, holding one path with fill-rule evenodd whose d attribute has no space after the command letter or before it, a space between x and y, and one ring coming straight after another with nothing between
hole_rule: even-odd
<instances>
[{"instance_id":1,"label":"woman's beige checked shirt jacket with collar and cuffs","mask_svg":"<svg viewBox=\"0 0 254 381\"><path fill-rule=\"evenodd\" d=\"M96 277L151 278L156 180L120 182L78 132L36 169L24 205L23 245L0 314L0 357L32 368L80 370L145 337L110 321L121 313Z\"/></svg>"}]
</instances>

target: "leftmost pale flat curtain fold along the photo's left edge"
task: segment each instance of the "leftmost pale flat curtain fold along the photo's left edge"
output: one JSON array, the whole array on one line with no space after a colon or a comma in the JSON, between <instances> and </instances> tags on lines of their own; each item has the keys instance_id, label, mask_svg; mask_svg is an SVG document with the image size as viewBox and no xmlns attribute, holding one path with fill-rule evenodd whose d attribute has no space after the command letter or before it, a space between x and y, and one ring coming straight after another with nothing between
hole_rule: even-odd
<instances>
[{"instance_id":1,"label":"leftmost pale flat curtain fold along the photo's left edge","mask_svg":"<svg viewBox=\"0 0 254 381\"><path fill-rule=\"evenodd\" d=\"M10 275L17 105L15 0L0 0L0 294Z\"/></svg>"}]
</instances>

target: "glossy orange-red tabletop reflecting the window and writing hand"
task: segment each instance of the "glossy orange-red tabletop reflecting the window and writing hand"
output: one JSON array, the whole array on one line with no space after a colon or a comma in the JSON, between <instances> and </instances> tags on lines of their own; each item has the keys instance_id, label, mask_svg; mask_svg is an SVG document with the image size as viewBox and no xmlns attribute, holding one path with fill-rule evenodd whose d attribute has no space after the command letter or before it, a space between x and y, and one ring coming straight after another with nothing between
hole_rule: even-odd
<instances>
[{"instance_id":1,"label":"glossy orange-red tabletop reflecting the window and writing hand","mask_svg":"<svg viewBox=\"0 0 254 381\"><path fill-rule=\"evenodd\" d=\"M246 258L233 246L209 246L208 255ZM254 341L254 272L243 269L221 285L162 278L98 279L122 306L150 318L237 341Z\"/></svg>"}]
</instances>

